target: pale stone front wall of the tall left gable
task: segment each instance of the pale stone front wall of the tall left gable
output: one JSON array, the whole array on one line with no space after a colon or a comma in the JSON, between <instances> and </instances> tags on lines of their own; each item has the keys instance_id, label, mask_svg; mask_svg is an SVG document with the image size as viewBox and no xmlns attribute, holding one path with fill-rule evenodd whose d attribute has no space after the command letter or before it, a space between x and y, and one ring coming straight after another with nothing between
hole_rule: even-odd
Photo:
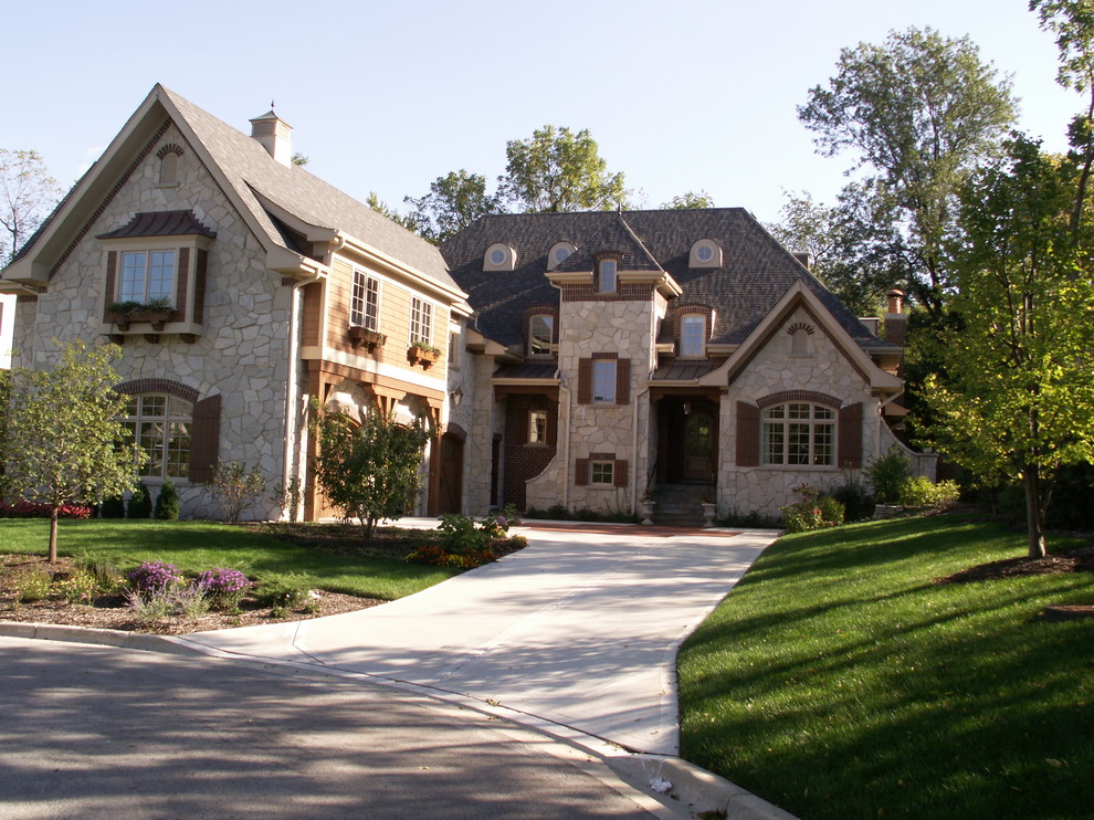
<instances>
[{"instance_id":1,"label":"pale stone front wall of the tall left gable","mask_svg":"<svg viewBox=\"0 0 1094 820\"><path fill-rule=\"evenodd\" d=\"M18 330L28 330L20 361L52 364L57 353L53 338L105 340L103 305L113 297L104 294L105 253L95 235L127 224L140 211L193 210L218 234L209 251L204 332L193 344L173 335L161 336L157 344L128 336L116 369L122 381L169 378L194 388L202 398L221 393L220 458L257 465L273 487L283 476L291 288L265 269L262 246L173 126L157 146L169 143L183 146L180 183L160 185L155 147L148 151L39 297L32 333L31 312L20 311L28 314L19 319ZM146 482L155 495L160 482ZM176 486L183 516L219 515L206 487L187 480L176 480ZM272 495L251 511L259 519L280 514Z\"/></svg>"}]
</instances>

